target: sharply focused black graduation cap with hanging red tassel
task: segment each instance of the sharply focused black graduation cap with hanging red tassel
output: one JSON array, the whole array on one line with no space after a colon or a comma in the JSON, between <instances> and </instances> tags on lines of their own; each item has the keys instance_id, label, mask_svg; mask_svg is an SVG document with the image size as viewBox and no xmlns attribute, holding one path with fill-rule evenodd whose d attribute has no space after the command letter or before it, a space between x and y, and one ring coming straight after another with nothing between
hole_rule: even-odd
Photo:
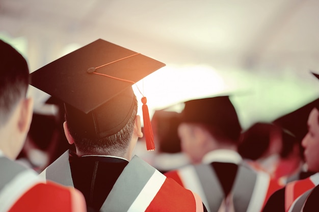
<instances>
[{"instance_id":1,"label":"sharply focused black graduation cap with hanging red tassel","mask_svg":"<svg viewBox=\"0 0 319 212\"><path fill-rule=\"evenodd\" d=\"M30 84L64 102L68 125L77 134L104 138L128 122L135 101L131 86L163 66L138 52L98 39L34 71ZM144 118L144 112L148 115L145 97L142 102ZM150 125L145 118L144 128ZM151 137L147 131L145 136L146 141Z\"/></svg>"}]
</instances>

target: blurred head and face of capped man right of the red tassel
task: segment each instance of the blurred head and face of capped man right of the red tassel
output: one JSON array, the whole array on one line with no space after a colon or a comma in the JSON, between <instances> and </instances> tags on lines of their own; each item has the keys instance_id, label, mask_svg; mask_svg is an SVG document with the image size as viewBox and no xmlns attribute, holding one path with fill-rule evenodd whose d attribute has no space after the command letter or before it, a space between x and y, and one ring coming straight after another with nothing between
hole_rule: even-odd
<instances>
[{"instance_id":1,"label":"blurred head and face of capped man right of the red tassel","mask_svg":"<svg viewBox=\"0 0 319 212\"><path fill-rule=\"evenodd\" d=\"M182 151L193 163L217 149L237 150L241 125L228 96L185 102L178 135Z\"/></svg>"}]
</instances>

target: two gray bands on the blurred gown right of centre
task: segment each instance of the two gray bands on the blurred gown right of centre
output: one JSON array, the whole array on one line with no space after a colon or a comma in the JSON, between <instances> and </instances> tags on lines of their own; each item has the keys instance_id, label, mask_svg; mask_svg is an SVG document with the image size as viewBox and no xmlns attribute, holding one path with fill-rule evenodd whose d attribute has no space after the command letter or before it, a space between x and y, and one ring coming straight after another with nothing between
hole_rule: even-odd
<instances>
[{"instance_id":1,"label":"two gray bands on the blurred gown right of centre","mask_svg":"<svg viewBox=\"0 0 319 212\"><path fill-rule=\"evenodd\" d=\"M218 211L224 197L223 189L214 169L209 164L194 166L211 212ZM245 166L238 166L230 194L233 194L234 208L239 212L247 211L254 191L257 174ZM248 183L247 183L248 182Z\"/></svg>"}]
</instances>

